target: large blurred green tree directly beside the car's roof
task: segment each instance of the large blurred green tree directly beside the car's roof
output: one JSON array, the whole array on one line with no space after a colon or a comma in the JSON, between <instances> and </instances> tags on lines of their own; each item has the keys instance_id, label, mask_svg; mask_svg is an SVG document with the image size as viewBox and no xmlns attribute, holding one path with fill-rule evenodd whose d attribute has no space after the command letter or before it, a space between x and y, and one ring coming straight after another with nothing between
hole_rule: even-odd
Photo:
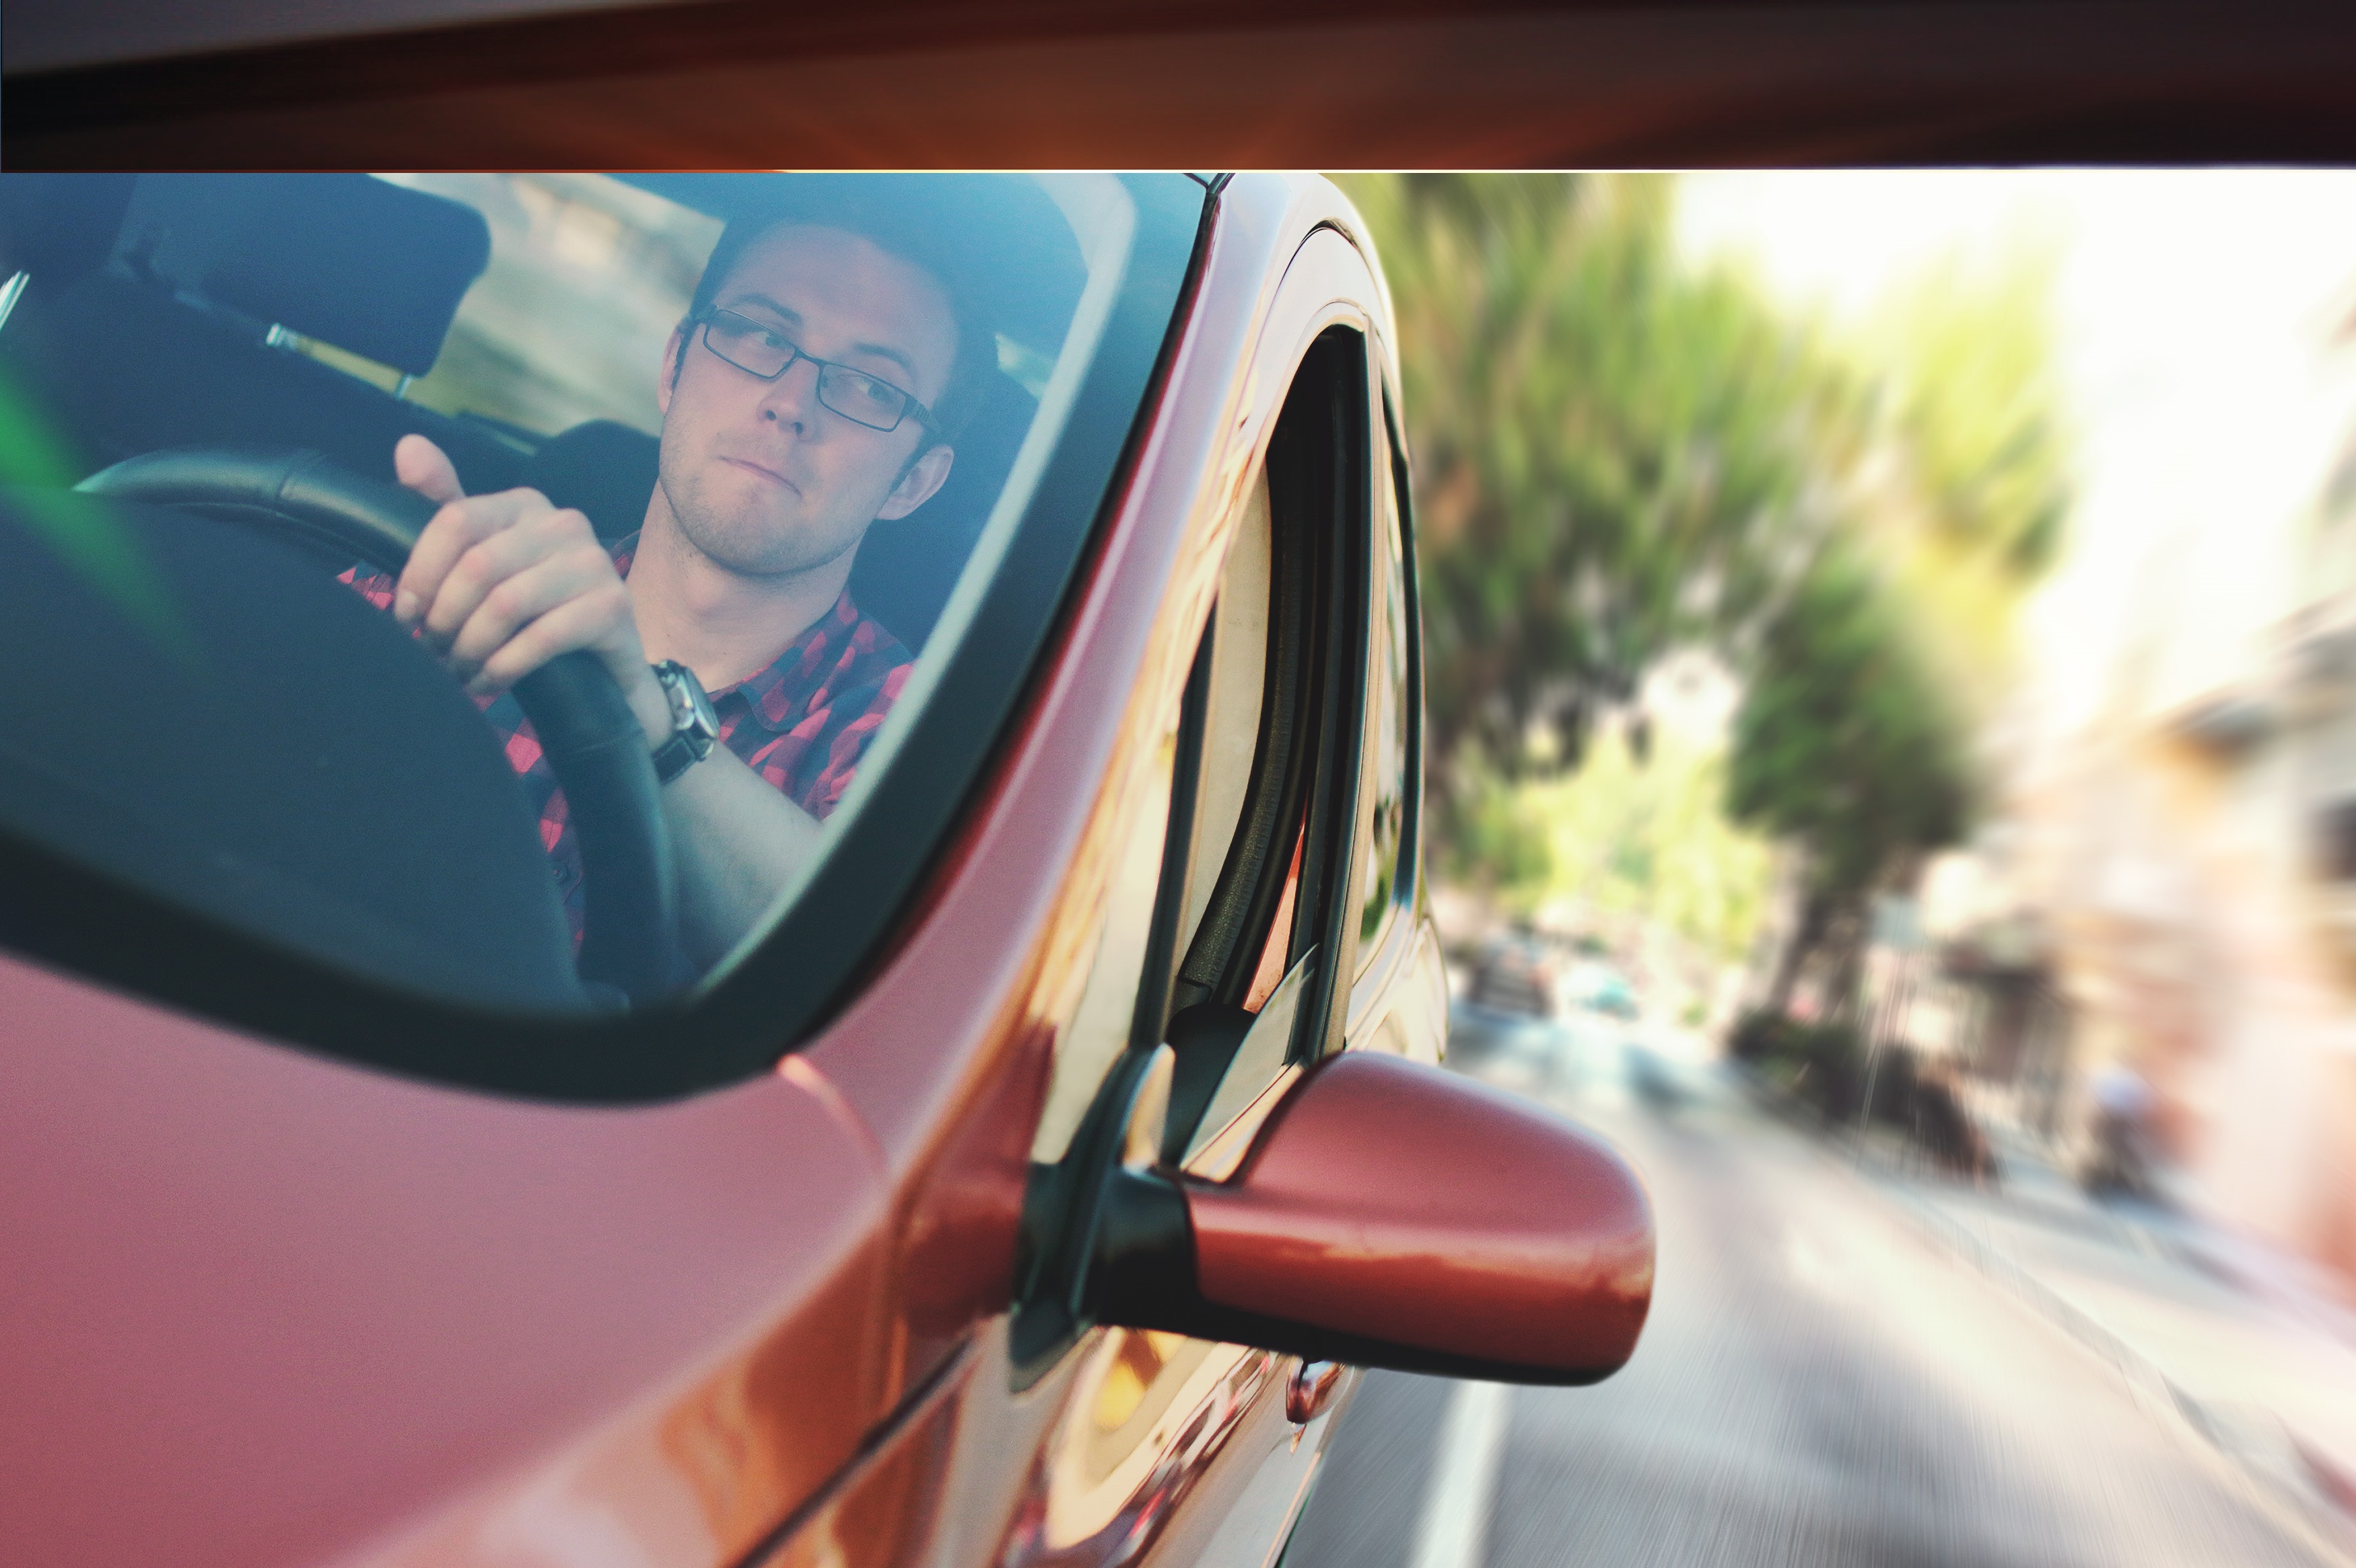
<instances>
[{"instance_id":1,"label":"large blurred green tree directly beside the car's roof","mask_svg":"<svg viewBox=\"0 0 2356 1568\"><path fill-rule=\"evenodd\" d=\"M1407 344L1447 810L1468 765L1576 765L1666 652L1755 638L1831 525L1861 388L1732 273L1677 261L1666 177L1341 184Z\"/></svg>"}]
</instances>

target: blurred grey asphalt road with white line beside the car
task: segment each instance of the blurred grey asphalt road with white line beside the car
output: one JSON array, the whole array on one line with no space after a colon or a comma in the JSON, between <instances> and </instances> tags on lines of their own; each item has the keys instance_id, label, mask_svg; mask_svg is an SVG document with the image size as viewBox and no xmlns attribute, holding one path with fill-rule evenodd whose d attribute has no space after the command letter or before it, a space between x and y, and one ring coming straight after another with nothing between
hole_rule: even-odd
<instances>
[{"instance_id":1,"label":"blurred grey asphalt road with white line beside the car","mask_svg":"<svg viewBox=\"0 0 2356 1568\"><path fill-rule=\"evenodd\" d=\"M2332 1561L1708 1067L1602 1019L1454 1052L1644 1175L1652 1321L1593 1389L1369 1375L1284 1568Z\"/></svg>"}]
</instances>

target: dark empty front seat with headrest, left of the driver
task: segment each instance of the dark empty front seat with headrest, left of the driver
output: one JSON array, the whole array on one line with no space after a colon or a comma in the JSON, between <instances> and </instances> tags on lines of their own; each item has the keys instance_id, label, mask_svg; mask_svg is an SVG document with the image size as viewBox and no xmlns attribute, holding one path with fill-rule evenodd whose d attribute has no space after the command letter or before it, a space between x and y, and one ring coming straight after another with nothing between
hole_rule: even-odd
<instances>
[{"instance_id":1,"label":"dark empty front seat with headrest, left of the driver","mask_svg":"<svg viewBox=\"0 0 2356 1568\"><path fill-rule=\"evenodd\" d=\"M283 325L424 374L488 257L471 207L360 174L14 179L0 238L31 283L0 374L71 478L160 447L290 445L389 480L417 431L469 490L518 483L523 452L483 426L264 341Z\"/></svg>"}]
</instances>

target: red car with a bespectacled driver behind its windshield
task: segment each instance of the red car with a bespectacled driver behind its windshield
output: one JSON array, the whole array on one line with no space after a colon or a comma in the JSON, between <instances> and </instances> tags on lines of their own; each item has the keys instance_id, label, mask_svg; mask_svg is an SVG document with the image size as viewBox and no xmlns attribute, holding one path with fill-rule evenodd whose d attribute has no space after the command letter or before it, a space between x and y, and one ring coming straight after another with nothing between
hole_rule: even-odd
<instances>
[{"instance_id":1,"label":"red car with a bespectacled driver behind its windshield","mask_svg":"<svg viewBox=\"0 0 2356 1568\"><path fill-rule=\"evenodd\" d=\"M1437 1067L1395 339L1329 184L0 200L12 1561L1265 1563L1343 1368L1628 1358L1642 1189ZM803 273L702 297L773 212L994 363L935 403ZM690 381L919 431L843 638L704 671L792 855L697 836L610 659L469 699L365 593L436 518L408 436L648 591ZM780 866L740 930L714 855Z\"/></svg>"}]
</instances>

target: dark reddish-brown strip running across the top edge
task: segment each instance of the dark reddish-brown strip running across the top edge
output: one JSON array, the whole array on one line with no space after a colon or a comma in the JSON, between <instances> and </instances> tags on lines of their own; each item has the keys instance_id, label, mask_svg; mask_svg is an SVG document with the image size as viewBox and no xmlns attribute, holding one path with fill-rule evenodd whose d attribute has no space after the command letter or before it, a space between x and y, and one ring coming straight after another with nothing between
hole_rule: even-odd
<instances>
[{"instance_id":1,"label":"dark reddish-brown strip running across the top edge","mask_svg":"<svg viewBox=\"0 0 2356 1568\"><path fill-rule=\"evenodd\" d=\"M49 0L61 2L61 0ZM1527 89L1529 45L1498 21L1564 21L1560 92ZM1376 40L1414 24L1414 40ZM1199 108L1154 78L1159 42L1293 31L1317 47L1284 54L1282 104L1253 113L1239 85L1275 89L1268 61L1239 49L1230 97ZM1522 28L1527 33L1527 28ZM1571 45L1571 38L1586 42ZM1034 57L1067 45L1131 47L1098 71L1136 92L1077 94L1070 108L1004 101L975 85L957 104L902 106L881 57L973 49ZM1343 54L1322 40L1348 45ZM1376 54L1366 54L1374 47ZM1374 64L1381 57L1381 64ZM686 0L368 38L19 71L0 104L16 167L346 167L410 148L405 167L474 167L518 155L549 167L740 167L858 158L841 94L808 122L759 85L763 68L874 59L869 101L886 122L924 108L914 141L886 137L895 165L1039 162L1041 148L1114 148L1098 160L1357 165L1760 165L1760 162L2344 162L2356 158L2356 16L2299 0L2241 7L2189 0L1079 0L957 5L874 0L780 12L773 0ZM1319 71L1333 66L1341 71ZM1414 82L1366 122L1366 73ZM596 104L598 85L617 89ZM554 92L554 97L551 97ZM629 94L641 94L631 99ZM587 94L587 97L584 97ZM676 106L676 94L693 99ZM1114 113L1107 104L1119 104ZM1091 106L1093 104L1093 106ZM1138 106L1152 113L1138 122ZM448 106L448 111L443 108ZM674 113L676 108L676 113ZM302 134L290 139L283 115ZM568 115L573 115L568 120ZM947 120L940 120L947 115ZM1399 132L1397 127L1411 127ZM1388 137L1388 139L1385 139ZM525 148L497 153L499 146ZM370 151L375 148L375 151ZM570 148L570 151L568 151ZM1072 153L1048 162L1074 162ZM1081 153L1079 162L1091 158Z\"/></svg>"}]
</instances>

